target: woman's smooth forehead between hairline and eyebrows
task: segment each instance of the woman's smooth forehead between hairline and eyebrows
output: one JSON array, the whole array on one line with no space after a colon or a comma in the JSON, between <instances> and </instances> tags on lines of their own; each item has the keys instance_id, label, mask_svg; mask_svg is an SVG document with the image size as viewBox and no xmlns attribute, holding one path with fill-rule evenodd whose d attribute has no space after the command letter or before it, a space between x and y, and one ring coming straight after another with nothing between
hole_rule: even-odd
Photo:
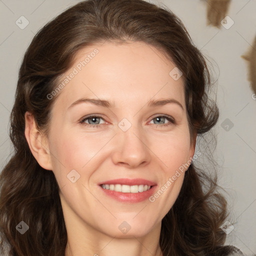
<instances>
[{"instance_id":1,"label":"woman's smooth forehead between hairline and eyebrows","mask_svg":"<svg viewBox=\"0 0 256 256\"><path fill-rule=\"evenodd\" d=\"M184 105L183 79L173 79L173 68L174 62L144 42L93 44L76 52L58 81L63 88L56 101L68 107L82 96L122 104L174 97Z\"/></svg>"}]
</instances>

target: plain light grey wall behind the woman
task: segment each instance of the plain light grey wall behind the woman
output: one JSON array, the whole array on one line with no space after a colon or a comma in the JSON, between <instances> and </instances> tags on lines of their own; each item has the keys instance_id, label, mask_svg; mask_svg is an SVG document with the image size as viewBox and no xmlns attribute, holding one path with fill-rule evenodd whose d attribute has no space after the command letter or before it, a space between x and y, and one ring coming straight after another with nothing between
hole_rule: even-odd
<instances>
[{"instance_id":1,"label":"plain light grey wall behind the woman","mask_svg":"<svg viewBox=\"0 0 256 256\"><path fill-rule=\"evenodd\" d=\"M78 0L0 0L1 169L11 152L8 118L23 54L40 27L76 2ZM241 58L256 36L256 0L231 1L227 14L234 24L229 29L206 25L206 0L151 2L168 6L213 64L215 77L218 77L220 109L214 129L217 134L214 156L221 166L219 184L226 190L231 207L228 220L234 227L226 243L239 247L245 255L256 254L256 100L247 81L246 62ZM29 21L24 29L15 23L22 15ZM227 126L224 127L227 118L228 131Z\"/></svg>"}]
</instances>

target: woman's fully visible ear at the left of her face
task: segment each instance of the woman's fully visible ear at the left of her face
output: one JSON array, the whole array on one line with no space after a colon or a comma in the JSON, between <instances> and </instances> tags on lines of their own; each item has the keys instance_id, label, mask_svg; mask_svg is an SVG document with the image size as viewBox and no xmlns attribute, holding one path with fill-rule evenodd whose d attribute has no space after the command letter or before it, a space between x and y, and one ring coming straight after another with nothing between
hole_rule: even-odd
<instances>
[{"instance_id":1,"label":"woman's fully visible ear at the left of her face","mask_svg":"<svg viewBox=\"0 0 256 256\"><path fill-rule=\"evenodd\" d=\"M30 112L25 112L25 137L31 153L41 167L52 170L48 140L38 130L34 117Z\"/></svg>"}]
</instances>

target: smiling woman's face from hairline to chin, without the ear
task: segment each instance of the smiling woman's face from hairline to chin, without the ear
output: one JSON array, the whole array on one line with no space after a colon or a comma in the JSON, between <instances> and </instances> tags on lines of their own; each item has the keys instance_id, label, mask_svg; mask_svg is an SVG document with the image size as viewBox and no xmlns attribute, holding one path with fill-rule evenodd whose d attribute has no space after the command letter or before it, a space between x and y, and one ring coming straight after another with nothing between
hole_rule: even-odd
<instances>
[{"instance_id":1,"label":"smiling woman's face from hairline to chin, without the ear","mask_svg":"<svg viewBox=\"0 0 256 256\"><path fill-rule=\"evenodd\" d=\"M159 231L194 153L174 67L143 42L104 42L76 54L60 91L49 95L58 94L48 142L67 229Z\"/></svg>"}]
</instances>

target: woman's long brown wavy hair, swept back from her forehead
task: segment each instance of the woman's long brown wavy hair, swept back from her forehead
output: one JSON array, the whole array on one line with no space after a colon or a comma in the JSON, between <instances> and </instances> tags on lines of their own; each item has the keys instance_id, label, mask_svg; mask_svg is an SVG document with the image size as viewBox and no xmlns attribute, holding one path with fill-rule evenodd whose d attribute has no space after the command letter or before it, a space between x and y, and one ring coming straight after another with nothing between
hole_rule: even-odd
<instances>
[{"instance_id":1,"label":"woman's long brown wavy hair, swept back from her forehead","mask_svg":"<svg viewBox=\"0 0 256 256\"><path fill-rule=\"evenodd\" d=\"M44 25L27 48L19 69L15 102L10 115L14 152L0 174L0 232L13 256L63 256L67 233L52 171L33 157L24 135L26 111L47 132L55 97L50 93L75 53L97 42L142 41L161 50L182 71L192 143L217 122L218 107L207 96L211 75L206 60L182 24L167 7L143 0L86 0L66 9ZM223 255L226 201L216 179L192 162L181 191L162 219L160 247L164 256ZM20 234L23 220L29 229Z\"/></svg>"}]
</instances>

